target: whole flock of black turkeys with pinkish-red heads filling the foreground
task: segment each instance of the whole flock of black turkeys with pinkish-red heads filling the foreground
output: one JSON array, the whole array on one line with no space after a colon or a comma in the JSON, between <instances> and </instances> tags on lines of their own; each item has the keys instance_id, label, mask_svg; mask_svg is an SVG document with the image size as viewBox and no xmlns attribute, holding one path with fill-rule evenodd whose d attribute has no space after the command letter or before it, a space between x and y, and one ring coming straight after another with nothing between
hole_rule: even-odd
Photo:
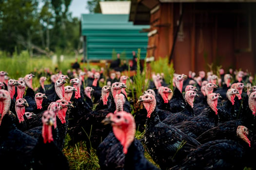
<instances>
[{"instance_id":1,"label":"whole flock of black turkeys with pinkish-red heads filling the foreground","mask_svg":"<svg viewBox=\"0 0 256 170\"><path fill-rule=\"evenodd\" d=\"M2 167L70 170L64 146L85 142L101 170L256 168L256 86L244 71L175 73L172 85L153 73L137 101L125 75L57 73L39 77L35 89L34 74L7 75L0 71Z\"/></svg>"}]
</instances>

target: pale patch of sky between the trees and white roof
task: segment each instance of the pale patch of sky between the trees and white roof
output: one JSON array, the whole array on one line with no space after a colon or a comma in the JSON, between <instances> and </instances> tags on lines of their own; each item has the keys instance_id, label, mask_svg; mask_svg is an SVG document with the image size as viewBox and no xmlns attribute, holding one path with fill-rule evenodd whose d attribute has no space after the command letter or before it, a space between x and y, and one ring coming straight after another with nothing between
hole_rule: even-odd
<instances>
[{"instance_id":1,"label":"pale patch of sky between the trees and white roof","mask_svg":"<svg viewBox=\"0 0 256 170\"><path fill-rule=\"evenodd\" d=\"M69 11L72 12L72 17L81 18L81 14L89 14L86 5L87 0L72 0L69 6Z\"/></svg>"}]
</instances>

